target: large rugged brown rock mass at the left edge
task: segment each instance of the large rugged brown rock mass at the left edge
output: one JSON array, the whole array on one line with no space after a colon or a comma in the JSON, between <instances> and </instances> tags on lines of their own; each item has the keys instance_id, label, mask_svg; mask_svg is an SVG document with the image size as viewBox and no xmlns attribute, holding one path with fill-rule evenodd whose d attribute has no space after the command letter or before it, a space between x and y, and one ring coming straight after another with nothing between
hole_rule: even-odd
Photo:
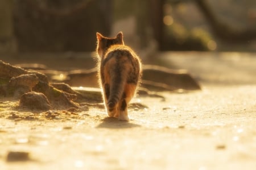
<instances>
[{"instance_id":1,"label":"large rugged brown rock mass at the left edge","mask_svg":"<svg viewBox=\"0 0 256 170\"><path fill-rule=\"evenodd\" d=\"M79 107L78 103L73 102L77 99L77 92L66 84L56 84L56 86L62 90L49 84L48 77L43 73L26 71L0 60L0 96L19 98L26 93L20 98L20 106L39 110L49 109L49 103L55 109ZM39 97L38 93L29 93L31 91L43 93L44 97ZM44 103L41 103L43 101ZM35 102L35 108L31 102Z\"/></svg>"}]
</instances>

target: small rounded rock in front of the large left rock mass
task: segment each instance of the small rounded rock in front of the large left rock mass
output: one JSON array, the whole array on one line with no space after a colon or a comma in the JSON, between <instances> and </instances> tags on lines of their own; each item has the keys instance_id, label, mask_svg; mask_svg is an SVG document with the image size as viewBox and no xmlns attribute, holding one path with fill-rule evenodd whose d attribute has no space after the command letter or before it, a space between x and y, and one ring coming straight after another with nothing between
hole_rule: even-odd
<instances>
[{"instance_id":1,"label":"small rounded rock in front of the large left rock mass","mask_svg":"<svg viewBox=\"0 0 256 170\"><path fill-rule=\"evenodd\" d=\"M20 97L20 107L25 107L31 110L49 110L51 105L43 93L28 92Z\"/></svg>"}]
</instances>

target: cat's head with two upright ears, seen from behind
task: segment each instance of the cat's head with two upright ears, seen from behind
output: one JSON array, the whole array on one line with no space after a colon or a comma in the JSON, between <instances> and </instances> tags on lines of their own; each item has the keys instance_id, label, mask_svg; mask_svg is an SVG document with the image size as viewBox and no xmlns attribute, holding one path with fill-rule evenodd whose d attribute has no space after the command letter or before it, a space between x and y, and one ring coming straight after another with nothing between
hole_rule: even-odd
<instances>
[{"instance_id":1,"label":"cat's head with two upright ears, seen from behind","mask_svg":"<svg viewBox=\"0 0 256 170\"><path fill-rule=\"evenodd\" d=\"M118 32L117 36L115 38L108 38L105 36L102 36L100 33L97 32L97 49L96 52L98 55L102 57L102 55L108 50L108 48L112 45L125 45L123 43L123 33Z\"/></svg>"}]
</instances>

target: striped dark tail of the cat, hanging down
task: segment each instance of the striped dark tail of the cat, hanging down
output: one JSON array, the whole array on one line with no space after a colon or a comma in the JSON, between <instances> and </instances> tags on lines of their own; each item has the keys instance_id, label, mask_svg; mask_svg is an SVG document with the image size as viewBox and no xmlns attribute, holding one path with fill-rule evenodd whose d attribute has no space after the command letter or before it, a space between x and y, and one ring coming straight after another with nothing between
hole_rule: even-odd
<instances>
[{"instance_id":1,"label":"striped dark tail of the cat, hanging down","mask_svg":"<svg viewBox=\"0 0 256 170\"><path fill-rule=\"evenodd\" d=\"M123 92L126 84L126 75L124 70L113 72L110 77L110 94L108 99L109 109L112 109L117 105L120 99L123 97Z\"/></svg>"}]
</instances>

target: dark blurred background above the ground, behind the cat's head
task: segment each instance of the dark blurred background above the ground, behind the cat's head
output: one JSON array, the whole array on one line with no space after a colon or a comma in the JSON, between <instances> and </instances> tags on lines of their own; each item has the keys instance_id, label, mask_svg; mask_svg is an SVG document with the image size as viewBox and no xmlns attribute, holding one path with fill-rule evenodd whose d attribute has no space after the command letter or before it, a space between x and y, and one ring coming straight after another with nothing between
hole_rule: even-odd
<instances>
[{"instance_id":1,"label":"dark blurred background above the ground, behind the cat's head","mask_svg":"<svg viewBox=\"0 0 256 170\"><path fill-rule=\"evenodd\" d=\"M256 51L256 1L0 0L0 52L89 52L96 32L141 51Z\"/></svg>"}]
</instances>

